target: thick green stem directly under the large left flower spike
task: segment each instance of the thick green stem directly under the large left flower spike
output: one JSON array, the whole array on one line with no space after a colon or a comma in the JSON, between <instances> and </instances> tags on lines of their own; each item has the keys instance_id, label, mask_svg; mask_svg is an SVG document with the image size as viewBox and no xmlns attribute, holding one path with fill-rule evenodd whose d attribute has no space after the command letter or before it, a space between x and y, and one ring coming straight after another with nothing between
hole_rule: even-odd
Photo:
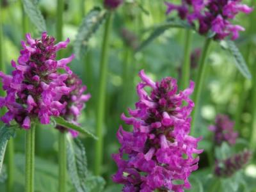
<instances>
[{"instance_id":1,"label":"thick green stem directly under the large left flower spike","mask_svg":"<svg viewBox=\"0 0 256 192\"><path fill-rule=\"evenodd\" d=\"M34 166L35 166L35 124L26 131L26 175L25 192L34 191Z\"/></svg>"}]
</instances>

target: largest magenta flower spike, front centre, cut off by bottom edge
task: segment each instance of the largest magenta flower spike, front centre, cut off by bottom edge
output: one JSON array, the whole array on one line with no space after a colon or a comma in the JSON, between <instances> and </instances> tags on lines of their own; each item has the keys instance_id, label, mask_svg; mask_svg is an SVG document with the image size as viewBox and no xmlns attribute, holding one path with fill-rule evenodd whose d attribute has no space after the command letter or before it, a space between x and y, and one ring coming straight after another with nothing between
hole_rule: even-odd
<instances>
[{"instance_id":1,"label":"largest magenta flower spike, front centre, cut off by bottom edge","mask_svg":"<svg viewBox=\"0 0 256 192\"><path fill-rule=\"evenodd\" d=\"M188 177L198 169L199 157L194 158L193 154L202 152L197 149L200 138L189 136L189 115L194 106L189 95L194 83L177 93L177 81L172 77L155 83L143 70L140 77L143 82L137 86L140 100L136 109L129 109L131 117L122 115L133 131L124 131L121 126L117 133L122 147L113 154L118 165L113 180L124 184L126 192L188 189ZM152 88L149 95L146 87ZM184 102L187 105L183 106ZM183 183L175 183L178 180Z\"/></svg>"}]
</instances>

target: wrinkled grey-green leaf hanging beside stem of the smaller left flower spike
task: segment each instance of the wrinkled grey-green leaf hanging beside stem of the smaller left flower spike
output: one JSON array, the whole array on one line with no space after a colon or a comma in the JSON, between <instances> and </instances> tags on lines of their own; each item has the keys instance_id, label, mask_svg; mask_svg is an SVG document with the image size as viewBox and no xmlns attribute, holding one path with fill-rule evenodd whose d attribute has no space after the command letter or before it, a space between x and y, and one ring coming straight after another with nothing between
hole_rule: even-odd
<instances>
[{"instance_id":1,"label":"wrinkled grey-green leaf hanging beside stem of the smaller left flower spike","mask_svg":"<svg viewBox=\"0 0 256 192\"><path fill-rule=\"evenodd\" d=\"M88 176L87 159L83 144L78 139L67 136L67 162L70 180L77 192L89 191L85 180Z\"/></svg>"}]
</instances>

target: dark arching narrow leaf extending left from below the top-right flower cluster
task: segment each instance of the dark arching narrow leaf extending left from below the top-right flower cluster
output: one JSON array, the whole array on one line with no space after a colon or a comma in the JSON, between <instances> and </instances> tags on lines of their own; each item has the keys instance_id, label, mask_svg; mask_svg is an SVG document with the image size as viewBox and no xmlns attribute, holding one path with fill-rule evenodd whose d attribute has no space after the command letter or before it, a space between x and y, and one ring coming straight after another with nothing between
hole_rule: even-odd
<instances>
[{"instance_id":1,"label":"dark arching narrow leaf extending left from below the top-right flower cluster","mask_svg":"<svg viewBox=\"0 0 256 192\"><path fill-rule=\"evenodd\" d=\"M166 22L154 28L154 31L152 31L148 38L141 43L141 45L136 49L136 52L141 51L142 49L147 47L147 45L149 45L153 40L163 35L164 31L170 28L193 29L192 26L184 20L166 20Z\"/></svg>"}]
</instances>

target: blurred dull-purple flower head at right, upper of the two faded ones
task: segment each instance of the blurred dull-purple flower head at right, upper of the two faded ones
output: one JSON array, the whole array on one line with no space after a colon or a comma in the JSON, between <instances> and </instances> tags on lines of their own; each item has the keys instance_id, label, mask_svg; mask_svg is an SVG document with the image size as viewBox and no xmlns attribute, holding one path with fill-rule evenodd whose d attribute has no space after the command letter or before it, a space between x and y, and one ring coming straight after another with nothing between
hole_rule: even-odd
<instances>
[{"instance_id":1,"label":"blurred dull-purple flower head at right, upper of the two faded ones","mask_svg":"<svg viewBox=\"0 0 256 192\"><path fill-rule=\"evenodd\" d=\"M215 124L210 125L209 130L214 132L214 142L216 145L221 145L223 141L234 145L238 136L238 133L234 131L234 122L227 115L217 115Z\"/></svg>"}]
</instances>

